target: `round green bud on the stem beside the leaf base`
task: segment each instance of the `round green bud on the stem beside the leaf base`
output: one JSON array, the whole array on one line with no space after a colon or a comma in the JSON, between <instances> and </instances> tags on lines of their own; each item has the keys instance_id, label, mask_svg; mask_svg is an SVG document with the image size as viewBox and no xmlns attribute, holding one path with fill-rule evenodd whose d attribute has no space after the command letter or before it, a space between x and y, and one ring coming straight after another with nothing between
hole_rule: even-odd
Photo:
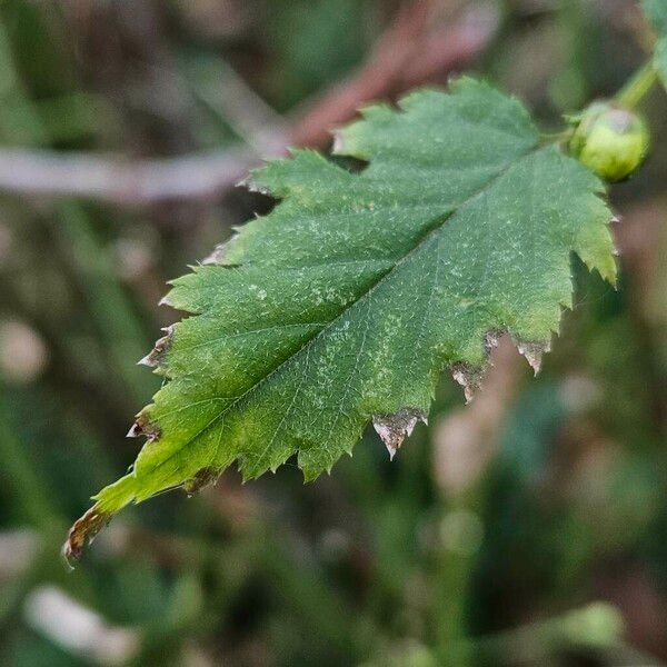
<instances>
[{"instance_id":1,"label":"round green bud on the stem beside the leaf base","mask_svg":"<svg viewBox=\"0 0 667 667\"><path fill-rule=\"evenodd\" d=\"M634 173L649 146L648 128L634 111L611 102L595 102L573 119L569 149L601 178L616 182Z\"/></svg>"}]
</instances>

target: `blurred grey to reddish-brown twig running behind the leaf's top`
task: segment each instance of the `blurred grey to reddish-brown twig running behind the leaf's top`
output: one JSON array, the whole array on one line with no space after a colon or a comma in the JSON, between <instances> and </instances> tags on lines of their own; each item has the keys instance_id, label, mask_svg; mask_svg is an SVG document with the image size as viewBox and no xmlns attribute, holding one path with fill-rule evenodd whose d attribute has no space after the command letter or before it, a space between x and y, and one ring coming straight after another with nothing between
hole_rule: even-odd
<instances>
[{"instance_id":1,"label":"blurred grey to reddish-brown twig running behind the leaf's top","mask_svg":"<svg viewBox=\"0 0 667 667\"><path fill-rule=\"evenodd\" d=\"M266 146L256 142L253 149L133 162L89 153L8 148L0 150L0 190L120 205L219 197L260 158L280 155L288 146L325 146L330 131L352 118L364 103L394 97L469 62L488 44L499 22L491 4L472 8L449 28L431 27L432 16L434 0L416 0L405 7L366 64L301 110L291 130L272 129Z\"/></svg>"}]
</instances>

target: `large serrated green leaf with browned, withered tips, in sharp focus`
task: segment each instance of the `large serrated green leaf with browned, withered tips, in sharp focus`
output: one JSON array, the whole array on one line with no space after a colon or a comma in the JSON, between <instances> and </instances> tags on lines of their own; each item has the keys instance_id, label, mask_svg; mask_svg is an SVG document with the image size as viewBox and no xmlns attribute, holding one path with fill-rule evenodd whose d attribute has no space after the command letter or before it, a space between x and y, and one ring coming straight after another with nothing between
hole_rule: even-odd
<instances>
[{"instance_id":1,"label":"large serrated green leaf with browned, withered tips, in sharp focus","mask_svg":"<svg viewBox=\"0 0 667 667\"><path fill-rule=\"evenodd\" d=\"M352 173L307 150L253 172L282 199L166 298L192 313L145 362L168 380L129 435L133 469L70 535L238 461L245 479L292 455L315 479L369 421L390 452L426 420L449 368L468 398L509 331L537 369L571 306L570 253L616 265L600 181L541 146L515 99L471 79L374 106L337 136Z\"/></svg>"}]
</instances>

